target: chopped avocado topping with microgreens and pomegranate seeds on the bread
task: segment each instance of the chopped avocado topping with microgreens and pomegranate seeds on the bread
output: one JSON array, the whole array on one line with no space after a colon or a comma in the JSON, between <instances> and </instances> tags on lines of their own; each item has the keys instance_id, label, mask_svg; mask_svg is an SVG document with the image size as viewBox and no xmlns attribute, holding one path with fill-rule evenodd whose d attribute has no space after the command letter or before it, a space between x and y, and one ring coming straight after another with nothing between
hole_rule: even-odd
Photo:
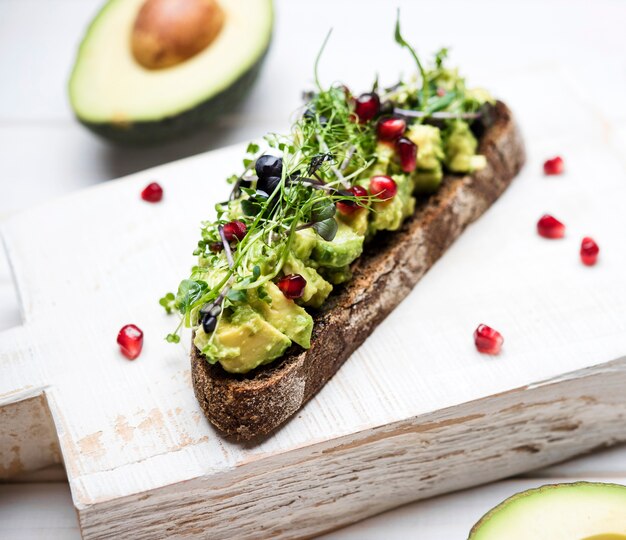
<instances>
[{"instance_id":1,"label":"chopped avocado topping with microgreens and pomegranate seeds on the bread","mask_svg":"<svg viewBox=\"0 0 626 540\"><path fill-rule=\"evenodd\" d=\"M447 50L425 68L399 24L396 41L415 77L355 97L322 87L318 56L317 88L291 133L248 146L229 200L202 224L191 275L160 300L181 314L168 341L192 328L207 361L231 373L308 348L312 314L351 279L368 241L402 227L445 173L486 166L472 127L484 127L492 98L444 66Z\"/></svg>"}]
</instances>

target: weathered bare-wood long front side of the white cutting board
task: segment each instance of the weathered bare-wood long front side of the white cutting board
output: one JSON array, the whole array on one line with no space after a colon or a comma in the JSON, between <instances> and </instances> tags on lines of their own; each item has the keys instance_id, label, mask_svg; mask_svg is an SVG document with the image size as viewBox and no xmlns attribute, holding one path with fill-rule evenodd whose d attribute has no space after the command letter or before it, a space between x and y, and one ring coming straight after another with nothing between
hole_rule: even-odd
<instances>
[{"instance_id":1,"label":"weathered bare-wood long front side of the white cutting board","mask_svg":"<svg viewBox=\"0 0 626 540\"><path fill-rule=\"evenodd\" d=\"M626 358L81 512L85 538L302 538L626 440Z\"/></svg>"}]
</instances>

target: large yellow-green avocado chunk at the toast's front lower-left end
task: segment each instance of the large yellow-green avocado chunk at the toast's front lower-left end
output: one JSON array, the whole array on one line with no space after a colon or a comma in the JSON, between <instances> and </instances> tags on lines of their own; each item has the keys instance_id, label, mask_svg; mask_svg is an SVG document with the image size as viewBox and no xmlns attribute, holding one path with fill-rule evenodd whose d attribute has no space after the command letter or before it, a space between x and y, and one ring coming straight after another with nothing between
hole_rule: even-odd
<instances>
[{"instance_id":1,"label":"large yellow-green avocado chunk at the toast's front lower-left end","mask_svg":"<svg viewBox=\"0 0 626 540\"><path fill-rule=\"evenodd\" d=\"M200 326L194 345L209 362L219 362L229 373L247 373L284 354L291 340L250 306L238 306L230 320L222 317L215 332Z\"/></svg>"}]
</instances>

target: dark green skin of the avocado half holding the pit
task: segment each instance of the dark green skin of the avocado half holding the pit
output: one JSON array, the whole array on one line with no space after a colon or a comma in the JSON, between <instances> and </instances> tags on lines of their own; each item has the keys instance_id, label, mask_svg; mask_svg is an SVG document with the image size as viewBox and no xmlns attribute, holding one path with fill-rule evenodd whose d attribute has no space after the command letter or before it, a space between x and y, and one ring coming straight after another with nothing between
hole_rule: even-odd
<instances>
[{"instance_id":1,"label":"dark green skin of the avocado half holding the pit","mask_svg":"<svg viewBox=\"0 0 626 540\"><path fill-rule=\"evenodd\" d=\"M189 135L203 126L215 122L223 113L232 110L243 101L256 81L267 52L271 38L263 54L231 86L219 94L174 116L167 116L150 122L116 124L113 122L87 122L78 116L76 119L91 131L113 143L123 146L148 146L168 142Z\"/></svg>"}]
</instances>

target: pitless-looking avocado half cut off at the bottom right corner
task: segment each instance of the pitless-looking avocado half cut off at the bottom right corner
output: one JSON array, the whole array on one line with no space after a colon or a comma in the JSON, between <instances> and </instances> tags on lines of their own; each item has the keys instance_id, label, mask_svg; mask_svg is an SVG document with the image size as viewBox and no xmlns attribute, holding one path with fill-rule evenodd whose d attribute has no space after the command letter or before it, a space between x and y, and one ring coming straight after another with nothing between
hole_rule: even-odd
<instances>
[{"instance_id":1,"label":"pitless-looking avocado half cut off at the bottom right corner","mask_svg":"<svg viewBox=\"0 0 626 540\"><path fill-rule=\"evenodd\" d=\"M626 486L551 484L513 495L469 540L626 540Z\"/></svg>"}]
</instances>

